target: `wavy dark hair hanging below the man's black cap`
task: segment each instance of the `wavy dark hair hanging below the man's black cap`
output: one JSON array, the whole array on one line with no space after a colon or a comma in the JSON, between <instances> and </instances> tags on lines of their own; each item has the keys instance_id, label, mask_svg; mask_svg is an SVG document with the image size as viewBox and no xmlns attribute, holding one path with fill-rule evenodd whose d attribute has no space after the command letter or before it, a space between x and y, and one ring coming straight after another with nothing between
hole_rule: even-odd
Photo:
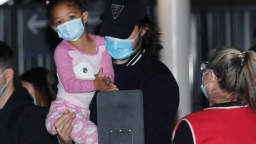
<instances>
[{"instance_id":1,"label":"wavy dark hair hanging below the man's black cap","mask_svg":"<svg viewBox=\"0 0 256 144\"><path fill-rule=\"evenodd\" d=\"M93 28L95 35L99 35L100 33L102 19L103 14L100 15L99 24ZM145 48L146 51L144 54L156 56L157 52L163 49L160 41L160 38L162 37L162 33L160 33L161 29L156 23L150 20L148 15L146 15L141 21L137 22L136 26L139 28L142 26L142 29L148 28L145 35L141 37L141 48Z\"/></svg>"}]
</instances>

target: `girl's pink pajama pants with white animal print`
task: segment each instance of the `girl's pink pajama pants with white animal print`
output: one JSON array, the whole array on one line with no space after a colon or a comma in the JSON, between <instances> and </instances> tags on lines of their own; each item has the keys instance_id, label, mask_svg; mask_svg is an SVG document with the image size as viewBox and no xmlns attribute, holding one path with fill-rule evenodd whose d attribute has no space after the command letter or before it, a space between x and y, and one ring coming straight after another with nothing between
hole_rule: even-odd
<instances>
[{"instance_id":1,"label":"girl's pink pajama pants with white animal print","mask_svg":"<svg viewBox=\"0 0 256 144\"><path fill-rule=\"evenodd\" d=\"M56 129L54 123L58 118L69 109L70 112L76 113L76 117L72 121L71 138L77 144L98 144L98 128L89 120L89 109L84 109L67 102L66 100L56 98L52 102L50 111L45 120L47 131L55 135Z\"/></svg>"}]
</instances>

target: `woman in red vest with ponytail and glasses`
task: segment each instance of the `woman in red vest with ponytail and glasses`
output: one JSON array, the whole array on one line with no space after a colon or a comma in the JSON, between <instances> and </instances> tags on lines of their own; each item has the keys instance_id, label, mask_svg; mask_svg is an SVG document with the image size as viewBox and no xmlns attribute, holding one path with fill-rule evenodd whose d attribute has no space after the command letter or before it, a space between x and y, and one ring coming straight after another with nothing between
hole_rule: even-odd
<instances>
[{"instance_id":1,"label":"woman in red vest with ponytail and glasses","mask_svg":"<svg viewBox=\"0 0 256 144\"><path fill-rule=\"evenodd\" d=\"M255 144L256 52L219 47L200 70L210 107L179 120L173 144Z\"/></svg>"}]
</instances>

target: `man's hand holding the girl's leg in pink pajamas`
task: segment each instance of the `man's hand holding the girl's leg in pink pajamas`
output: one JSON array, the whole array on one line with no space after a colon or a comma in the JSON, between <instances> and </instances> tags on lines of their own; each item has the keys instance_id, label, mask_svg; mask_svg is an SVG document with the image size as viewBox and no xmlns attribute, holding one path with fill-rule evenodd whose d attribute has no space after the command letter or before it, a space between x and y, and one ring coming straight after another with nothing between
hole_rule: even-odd
<instances>
[{"instance_id":1,"label":"man's hand holding the girl's leg in pink pajamas","mask_svg":"<svg viewBox=\"0 0 256 144\"><path fill-rule=\"evenodd\" d=\"M54 123L54 127L58 133L59 141L61 144L69 144L71 141L71 130L72 130L72 121L76 117L75 113L69 113L67 109L61 117Z\"/></svg>"}]
</instances>

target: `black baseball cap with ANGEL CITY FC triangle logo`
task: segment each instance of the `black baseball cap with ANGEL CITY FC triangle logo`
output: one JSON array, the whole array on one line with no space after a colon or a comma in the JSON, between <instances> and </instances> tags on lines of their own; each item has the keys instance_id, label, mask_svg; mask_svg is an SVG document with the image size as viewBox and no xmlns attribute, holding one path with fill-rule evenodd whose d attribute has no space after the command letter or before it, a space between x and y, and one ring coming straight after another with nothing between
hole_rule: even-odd
<instances>
[{"instance_id":1,"label":"black baseball cap with ANGEL CITY FC triangle logo","mask_svg":"<svg viewBox=\"0 0 256 144\"><path fill-rule=\"evenodd\" d=\"M127 39L137 22L147 15L143 0L107 0L100 36Z\"/></svg>"}]
</instances>

